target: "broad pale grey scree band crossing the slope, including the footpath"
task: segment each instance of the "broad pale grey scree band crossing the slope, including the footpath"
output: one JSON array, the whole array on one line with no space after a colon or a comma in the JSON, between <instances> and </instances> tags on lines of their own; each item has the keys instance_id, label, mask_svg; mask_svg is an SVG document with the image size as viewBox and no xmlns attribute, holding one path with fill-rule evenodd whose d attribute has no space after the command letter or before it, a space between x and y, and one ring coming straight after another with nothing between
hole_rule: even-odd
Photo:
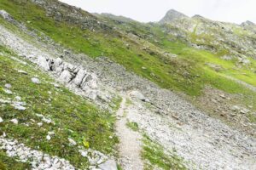
<instances>
[{"instance_id":1,"label":"broad pale grey scree band crossing the slope, including the footpath","mask_svg":"<svg viewBox=\"0 0 256 170\"><path fill-rule=\"evenodd\" d=\"M108 59L93 61L84 55L69 52L68 55L71 57L61 60L57 55L59 51L52 47L49 47L49 50L45 50L43 46L38 47L40 42L34 44L22 39L4 26L1 26L0 30L0 43L31 60L73 92L83 95L97 105L113 99L116 94L129 94L127 99L131 102L125 105L123 99L118 111L118 116L121 117L117 122L120 162L124 169L134 169L132 166L143 169L142 161L147 160L140 157L143 147L138 139L142 139L144 134L165 150L175 150L189 169L256 168L256 139L252 135L242 133L218 119L207 116L205 112L199 111L177 94L125 71L123 67ZM68 62L79 57L84 59L79 66L75 60L72 63ZM51 67L53 65L54 67ZM61 71L58 71L60 65ZM90 76L90 79L85 78L85 81L86 76ZM126 118L128 122L137 123L137 133L125 127ZM124 132L127 132L127 135ZM127 141L130 140L129 146ZM9 139L1 141L10 142ZM133 146L134 153L131 150ZM154 166L152 160L148 163ZM113 161L110 161L108 165L113 164ZM113 169L115 168L117 167L113 166Z\"/></svg>"}]
</instances>

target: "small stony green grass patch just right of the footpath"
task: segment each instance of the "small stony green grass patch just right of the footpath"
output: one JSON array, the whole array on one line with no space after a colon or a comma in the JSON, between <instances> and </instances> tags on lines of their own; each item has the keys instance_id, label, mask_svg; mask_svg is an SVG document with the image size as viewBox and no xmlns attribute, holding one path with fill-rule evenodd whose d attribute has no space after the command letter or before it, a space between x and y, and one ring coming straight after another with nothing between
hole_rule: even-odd
<instances>
[{"instance_id":1,"label":"small stony green grass patch just right of the footpath","mask_svg":"<svg viewBox=\"0 0 256 170\"><path fill-rule=\"evenodd\" d=\"M143 139L143 159L149 161L145 169L154 169L154 166L165 170L184 170L187 169L182 158L178 157L175 151L165 151L160 144L157 144L148 136Z\"/></svg>"}]
</instances>

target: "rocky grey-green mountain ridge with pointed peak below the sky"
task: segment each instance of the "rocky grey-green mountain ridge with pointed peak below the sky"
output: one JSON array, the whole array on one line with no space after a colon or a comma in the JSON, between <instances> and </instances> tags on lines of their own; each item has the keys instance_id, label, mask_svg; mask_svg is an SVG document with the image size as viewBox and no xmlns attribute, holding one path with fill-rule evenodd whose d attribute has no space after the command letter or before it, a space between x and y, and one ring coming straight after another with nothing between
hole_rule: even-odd
<instances>
[{"instance_id":1,"label":"rocky grey-green mountain ridge with pointed peak below the sky","mask_svg":"<svg viewBox=\"0 0 256 170\"><path fill-rule=\"evenodd\" d=\"M159 23L167 33L195 48L213 53L226 51L230 59L238 59L242 65L250 64L248 57L256 59L256 26L252 22L236 25L208 20L200 15L189 18L171 10Z\"/></svg>"}]
</instances>

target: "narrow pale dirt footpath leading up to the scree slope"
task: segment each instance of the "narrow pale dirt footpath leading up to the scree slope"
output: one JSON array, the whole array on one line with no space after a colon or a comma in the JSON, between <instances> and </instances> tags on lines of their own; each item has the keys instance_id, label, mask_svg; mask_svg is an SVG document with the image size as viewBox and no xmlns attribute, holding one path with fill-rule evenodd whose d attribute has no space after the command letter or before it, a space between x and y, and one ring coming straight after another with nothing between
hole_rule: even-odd
<instances>
[{"instance_id":1,"label":"narrow pale dirt footpath leading up to the scree slope","mask_svg":"<svg viewBox=\"0 0 256 170\"><path fill-rule=\"evenodd\" d=\"M125 116L126 97L123 97L117 116L119 120L116 122L117 135L119 136L119 154L120 163L124 170L141 170L143 169L143 161L141 160L141 135L132 131L126 126Z\"/></svg>"}]
</instances>

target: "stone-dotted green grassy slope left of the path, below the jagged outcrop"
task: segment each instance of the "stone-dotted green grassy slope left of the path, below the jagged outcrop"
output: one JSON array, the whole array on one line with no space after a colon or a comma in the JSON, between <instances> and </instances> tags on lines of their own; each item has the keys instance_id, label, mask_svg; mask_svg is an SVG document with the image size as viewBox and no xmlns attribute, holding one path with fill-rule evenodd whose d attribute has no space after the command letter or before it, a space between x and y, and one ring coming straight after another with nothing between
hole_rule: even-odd
<instances>
[{"instance_id":1,"label":"stone-dotted green grassy slope left of the path, below the jagged outcrop","mask_svg":"<svg viewBox=\"0 0 256 170\"><path fill-rule=\"evenodd\" d=\"M6 49L0 48L0 52L3 51ZM14 54L8 53L0 55L0 98L13 100L15 96L20 96L22 101L26 101L26 111L17 111L11 105L1 105L0 116L4 120L0 125L1 132L35 150L66 158L80 168L88 165L88 160L79 154L78 149L78 146L83 146L84 139L92 149L113 153L114 144L118 140L113 132L115 118L110 113L97 110L94 105L66 88L55 88L49 83L52 82L51 78L33 69L31 63L20 65L9 59L9 55ZM17 70L27 71L28 75L22 75ZM41 84L32 83L31 78L36 75ZM11 91L15 94L3 92L6 83L12 85ZM38 127L37 123L42 120L36 114L49 117L55 125L44 122L42 127ZM13 118L17 118L19 124L9 122ZM52 131L55 135L48 141L47 133ZM74 139L78 145L69 145L68 138Z\"/></svg>"}]
</instances>

